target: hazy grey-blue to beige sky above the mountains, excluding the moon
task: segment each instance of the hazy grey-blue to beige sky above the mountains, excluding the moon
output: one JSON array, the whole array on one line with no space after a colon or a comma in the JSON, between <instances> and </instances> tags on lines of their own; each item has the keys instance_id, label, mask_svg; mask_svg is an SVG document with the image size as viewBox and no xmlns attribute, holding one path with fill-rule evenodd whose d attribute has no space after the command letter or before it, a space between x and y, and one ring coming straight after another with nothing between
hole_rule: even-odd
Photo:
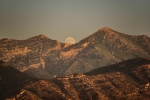
<instances>
[{"instance_id":1,"label":"hazy grey-blue to beige sky above the mountains, excluding the moon","mask_svg":"<svg viewBox=\"0 0 150 100\"><path fill-rule=\"evenodd\" d=\"M0 38L78 42L102 27L150 36L150 0L0 0Z\"/></svg>"}]
</instances>

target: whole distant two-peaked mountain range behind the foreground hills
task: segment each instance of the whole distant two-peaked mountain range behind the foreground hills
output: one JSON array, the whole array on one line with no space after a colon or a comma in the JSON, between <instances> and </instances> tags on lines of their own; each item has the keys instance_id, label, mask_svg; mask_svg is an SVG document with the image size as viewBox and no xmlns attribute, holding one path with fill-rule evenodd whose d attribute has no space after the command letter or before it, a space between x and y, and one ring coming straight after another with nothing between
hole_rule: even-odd
<instances>
[{"instance_id":1,"label":"whole distant two-peaked mountain range behind the foreground hills","mask_svg":"<svg viewBox=\"0 0 150 100\"><path fill-rule=\"evenodd\" d=\"M76 44L39 35L27 40L0 40L0 60L38 78L54 78L150 57L150 37L132 36L104 27Z\"/></svg>"}]
</instances>

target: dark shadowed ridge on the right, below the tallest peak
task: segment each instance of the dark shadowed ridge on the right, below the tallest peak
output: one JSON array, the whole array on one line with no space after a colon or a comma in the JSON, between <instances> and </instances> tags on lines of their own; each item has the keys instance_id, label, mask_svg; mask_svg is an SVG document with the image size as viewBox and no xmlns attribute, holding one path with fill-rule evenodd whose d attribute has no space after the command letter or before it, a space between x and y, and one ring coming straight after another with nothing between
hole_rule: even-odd
<instances>
[{"instance_id":1,"label":"dark shadowed ridge on the right, below the tallest peak","mask_svg":"<svg viewBox=\"0 0 150 100\"><path fill-rule=\"evenodd\" d=\"M92 71L85 73L85 75L96 75L118 71L123 73L129 73L131 70L147 64L150 64L150 58L129 59L126 61L119 62L117 64L94 69Z\"/></svg>"}]
</instances>

